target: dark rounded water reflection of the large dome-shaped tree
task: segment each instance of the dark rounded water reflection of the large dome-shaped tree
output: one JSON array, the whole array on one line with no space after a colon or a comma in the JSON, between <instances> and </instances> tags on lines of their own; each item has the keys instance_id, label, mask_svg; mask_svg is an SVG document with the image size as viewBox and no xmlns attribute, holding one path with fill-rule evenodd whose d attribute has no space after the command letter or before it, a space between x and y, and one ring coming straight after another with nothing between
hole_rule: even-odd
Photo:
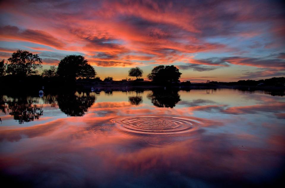
<instances>
[{"instance_id":1,"label":"dark rounded water reflection of the large dome-shaped tree","mask_svg":"<svg viewBox=\"0 0 285 188\"><path fill-rule=\"evenodd\" d=\"M83 116L95 100L95 96L84 93L62 93L57 98L59 109L67 116Z\"/></svg>"}]
</instances>

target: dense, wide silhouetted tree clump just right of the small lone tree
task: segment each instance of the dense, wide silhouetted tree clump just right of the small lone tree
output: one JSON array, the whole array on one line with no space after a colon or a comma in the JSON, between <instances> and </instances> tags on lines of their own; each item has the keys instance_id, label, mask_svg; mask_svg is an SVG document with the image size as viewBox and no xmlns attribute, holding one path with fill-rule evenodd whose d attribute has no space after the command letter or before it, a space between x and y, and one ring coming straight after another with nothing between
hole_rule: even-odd
<instances>
[{"instance_id":1,"label":"dense, wide silhouetted tree clump just right of the small lone tree","mask_svg":"<svg viewBox=\"0 0 285 188\"><path fill-rule=\"evenodd\" d=\"M155 82L178 82L181 74L179 69L173 65L159 65L148 74L148 79Z\"/></svg>"}]
</instances>

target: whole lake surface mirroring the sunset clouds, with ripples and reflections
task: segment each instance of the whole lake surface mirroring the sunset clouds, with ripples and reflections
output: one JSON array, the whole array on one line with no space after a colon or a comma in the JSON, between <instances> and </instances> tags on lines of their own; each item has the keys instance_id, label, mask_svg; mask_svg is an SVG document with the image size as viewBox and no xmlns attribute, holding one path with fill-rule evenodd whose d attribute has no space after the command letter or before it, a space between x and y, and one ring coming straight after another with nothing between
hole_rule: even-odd
<instances>
[{"instance_id":1,"label":"whole lake surface mirroring the sunset clouds, with ripples and reflections","mask_svg":"<svg viewBox=\"0 0 285 188\"><path fill-rule=\"evenodd\" d=\"M242 187L284 183L284 92L2 95L1 183Z\"/></svg>"}]
</instances>

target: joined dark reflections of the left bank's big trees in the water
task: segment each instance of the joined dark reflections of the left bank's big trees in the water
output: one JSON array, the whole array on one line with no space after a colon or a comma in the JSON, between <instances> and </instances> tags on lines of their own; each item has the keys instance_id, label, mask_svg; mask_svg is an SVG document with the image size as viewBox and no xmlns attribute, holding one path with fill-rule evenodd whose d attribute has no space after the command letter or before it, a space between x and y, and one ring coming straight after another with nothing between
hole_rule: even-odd
<instances>
[{"instance_id":1,"label":"joined dark reflections of the left bank's big trees in the water","mask_svg":"<svg viewBox=\"0 0 285 188\"><path fill-rule=\"evenodd\" d=\"M43 105L40 105L40 100L44 104L50 104L55 108L57 105L60 110L67 116L83 116L91 105L94 104L96 97L86 93L61 93L47 94L42 98L39 97L7 97L0 96L0 110L13 116L18 120L19 124L34 121L43 115Z\"/></svg>"}]
</instances>

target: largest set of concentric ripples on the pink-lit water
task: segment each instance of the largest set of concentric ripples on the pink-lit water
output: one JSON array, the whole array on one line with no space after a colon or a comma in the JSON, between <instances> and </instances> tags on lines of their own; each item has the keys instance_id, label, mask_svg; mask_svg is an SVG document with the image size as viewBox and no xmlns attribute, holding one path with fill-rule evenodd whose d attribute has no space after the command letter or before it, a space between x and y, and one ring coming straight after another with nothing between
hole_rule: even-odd
<instances>
[{"instance_id":1,"label":"largest set of concentric ripples on the pink-lit water","mask_svg":"<svg viewBox=\"0 0 285 188\"><path fill-rule=\"evenodd\" d=\"M114 119L117 127L126 132L140 134L176 134L197 129L198 121L177 117L144 116Z\"/></svg>"}]
</instances>

